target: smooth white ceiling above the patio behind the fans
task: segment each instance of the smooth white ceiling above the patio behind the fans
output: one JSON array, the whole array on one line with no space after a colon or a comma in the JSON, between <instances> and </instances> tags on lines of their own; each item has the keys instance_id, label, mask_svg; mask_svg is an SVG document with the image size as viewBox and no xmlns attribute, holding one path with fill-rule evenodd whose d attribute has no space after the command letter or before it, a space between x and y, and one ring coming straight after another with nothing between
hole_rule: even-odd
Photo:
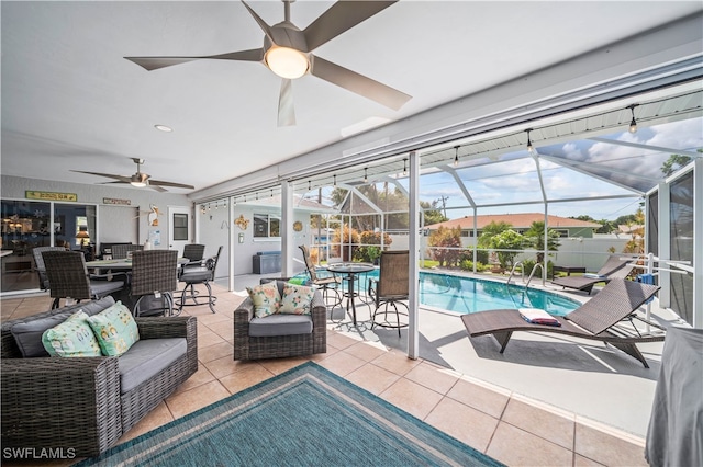
<instances>
[{"instance_id":1,"label":"smooth white ceiling above the patio behind the fans","mask_svg":"<svg viewBox=\"0 0 703 467\"><path fill-rule=\"evenodd\" d=\"M283 19L280 1L249 4L268 24ZM304 29L332 4L299 0L291 21ZM153 178L200 191L701 10L700 1L403 0L315 54L413 99L391 111L305 76L293 82L298 125L279 128L280 79L263 65L200 60L149 72L123 58L260 47L264 34L238 1L2 1L2 174L100 183L70 169L130 175L137 157Z\"/></svg>"}]
</instances>

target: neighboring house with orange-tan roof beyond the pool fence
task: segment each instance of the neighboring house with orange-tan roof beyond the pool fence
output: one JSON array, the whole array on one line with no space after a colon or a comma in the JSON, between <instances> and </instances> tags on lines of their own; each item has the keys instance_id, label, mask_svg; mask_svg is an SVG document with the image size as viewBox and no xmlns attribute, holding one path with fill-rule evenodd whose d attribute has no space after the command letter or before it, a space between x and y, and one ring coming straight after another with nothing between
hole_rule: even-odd
<instances>
[{"instance_id":1,"label":"neighboring house with orange-tan roof beyond the pool fence","mask_svg":"<svg viewBox=\"0 0 703 467\"><path fill-rule=\"evenodd\" d=\"M540 213L523 213L523 214L487 214L476 216L477 237L481 236L483 227L491 223L507 223L513 230L524 234L529 229L533 223L544 223L545 215ZM593 238L593 232L601 227L598 223L589 223L585 220L569 219L568 217L547 216L547 225L550 229L559 232L559 237L567 238ZM460 219L451 219L439 224L425 226L425 235L437 230L439 227L457 228L461 227L461 237L473 237L473 217L465 216Z\"/></svg>"}]
</instances>

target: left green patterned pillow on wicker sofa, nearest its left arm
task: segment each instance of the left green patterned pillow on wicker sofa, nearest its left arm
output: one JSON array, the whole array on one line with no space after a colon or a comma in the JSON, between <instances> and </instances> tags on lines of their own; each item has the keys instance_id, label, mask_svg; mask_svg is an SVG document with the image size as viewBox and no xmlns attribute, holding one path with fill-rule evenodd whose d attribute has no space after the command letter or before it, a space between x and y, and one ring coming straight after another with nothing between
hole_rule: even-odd
<instances>
[{"instance_id":1,"label":"left green patterned pillow on wicker sofa, nearest its left arm","mask_svg":"<svg viewBox=\"0 0 703 467\"><path fill-rule=\"evenodd\" d=\"M87 320L88 315L81 310L44 331L42 343L46 352L51 356L100 356L100 345Z\"/></svg>"}]
</instances>

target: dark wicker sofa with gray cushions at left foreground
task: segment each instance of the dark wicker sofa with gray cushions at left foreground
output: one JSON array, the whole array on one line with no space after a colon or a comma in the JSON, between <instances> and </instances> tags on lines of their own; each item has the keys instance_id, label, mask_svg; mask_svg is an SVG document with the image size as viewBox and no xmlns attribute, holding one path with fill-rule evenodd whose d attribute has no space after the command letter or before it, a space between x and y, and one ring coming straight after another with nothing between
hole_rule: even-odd
<instances>
[{"instance_id":1,"label":"dark wicker sofa with gray cushions at left foreground","mask_svg":"<svg viewBox=\"0 0 703 467\"><path fill-rule=\"evenodd\" d=\"M70 315L79 309L91 315L113 303L112 297L105 297L2 323L3 448L51 448L78 457L96 456L198 371L194 317L136 318L140 341L120 357L23 357L12 333L18 323L32 323L57 314ZM134 349L137 350L133 352ZM159 355L159 349L169 349L170 355L166 355L166 351ZM138 365L153 365L152 373L133 364L136 377L123 380L120 361L132 358L134 362L135 354L143 358ZM152 354L164 360L155 364L150 361ZM124 361L122 364L124 369ZM152 376L144 377L145 374ZM127 386L129 390L123 390Z\"/></svg>"}]
</instances>

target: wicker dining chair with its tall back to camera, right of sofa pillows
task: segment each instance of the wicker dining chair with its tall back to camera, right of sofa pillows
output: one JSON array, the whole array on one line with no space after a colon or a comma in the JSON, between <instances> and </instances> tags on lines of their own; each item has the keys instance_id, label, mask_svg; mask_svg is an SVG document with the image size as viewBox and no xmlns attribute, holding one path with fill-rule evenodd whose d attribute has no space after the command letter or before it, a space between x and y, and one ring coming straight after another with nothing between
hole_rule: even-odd
<instances>
[{"instance_id":1,"label":"wicker dining chair with its tall back to camera, right of sofa pillows","mask_svg":"<svg viewBox=\"0 0 703 467\"><path fill-rule=\"evenodd\" d=\"M134 316L174 315L172 292L178 288L178 251L132 252L130 296Z\"/></svg>"}]
</instances>

